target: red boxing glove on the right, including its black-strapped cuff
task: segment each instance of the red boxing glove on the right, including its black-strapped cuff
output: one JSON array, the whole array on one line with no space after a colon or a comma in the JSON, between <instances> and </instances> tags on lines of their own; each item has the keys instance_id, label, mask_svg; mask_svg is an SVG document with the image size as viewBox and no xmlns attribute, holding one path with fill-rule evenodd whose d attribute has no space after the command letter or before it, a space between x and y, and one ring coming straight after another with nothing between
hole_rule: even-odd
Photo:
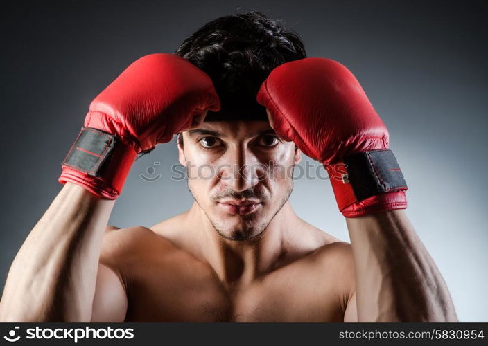
<instances>
[{"instance_id":1,"label":"red boxing glove on the right, including its black-strapped cuff","mask_svg":"<svg viewBox=\"0 0 488 346\"><path fill-rule=\"evenodd\" d=\"M387 128L345 66L320 57L287 62L263 82L257 101L278 136L324 164L345 217L406 208Z\"/></svg>"}]
</instances>

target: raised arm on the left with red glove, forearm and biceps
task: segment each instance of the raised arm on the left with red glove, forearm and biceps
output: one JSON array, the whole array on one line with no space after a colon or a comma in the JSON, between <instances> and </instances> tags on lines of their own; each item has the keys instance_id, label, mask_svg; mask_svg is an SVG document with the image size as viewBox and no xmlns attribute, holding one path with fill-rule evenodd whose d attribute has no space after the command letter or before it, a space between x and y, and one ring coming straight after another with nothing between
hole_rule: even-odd
<instances>
[{"instance_id":1,"label":"raised arm on the left with red glove, forearm and biceps","mask_svg":"<svg viewBox=\"0 0 488 346\"><path fill-rule=\"evenodd\" d=\"M219 108L211 78L168 53L141 57L102 91L90 104L85 126L62 163L59 181L66 185L12 263L0 320L123 319L123 286L112 268L103 263L99 267L114 200L137 154L198 126L208 109ZM110 288L121 298L120 305L108 300ZM97 309L105 303L113 313Z\"/></svg>"}]
</instances>

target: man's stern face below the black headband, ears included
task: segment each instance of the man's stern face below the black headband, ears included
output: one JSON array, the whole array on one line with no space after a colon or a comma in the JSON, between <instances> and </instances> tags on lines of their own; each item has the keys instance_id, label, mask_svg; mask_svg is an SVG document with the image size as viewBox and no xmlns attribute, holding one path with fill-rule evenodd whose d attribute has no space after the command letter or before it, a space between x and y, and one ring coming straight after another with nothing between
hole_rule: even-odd
<instances>
[{"instance_id":1,"label":"man's stern face below the black headband, ears included","mask_svg":"<svg viewBox=\"0 0 488 346\"><path fill-rule=\"evenodd\" d=\"M218 233L260 235L290 197L299 149L267 121L203 122L182 136L189 190Z\"/></svg>"}]
</instances>

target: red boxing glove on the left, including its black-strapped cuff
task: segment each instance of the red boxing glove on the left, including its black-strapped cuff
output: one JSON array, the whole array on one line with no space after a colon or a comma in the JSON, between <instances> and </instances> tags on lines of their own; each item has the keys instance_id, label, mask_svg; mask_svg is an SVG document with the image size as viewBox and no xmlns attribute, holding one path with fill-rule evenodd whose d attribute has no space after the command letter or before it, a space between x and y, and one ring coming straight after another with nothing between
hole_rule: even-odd
<instances>
[{"instance_id":1,"label":"red boxing glove on the left, including its black-strapped cuff","mask_svg":"<svg viewBox=\"0 0 488 346\"><path fill-rule=\"evenodd\" d=\"M59 181L116 199L137 154L196 127L209 109L220 100L204 71L169 53L141 57L90 104Z\"/></svg>"}]
</instances>

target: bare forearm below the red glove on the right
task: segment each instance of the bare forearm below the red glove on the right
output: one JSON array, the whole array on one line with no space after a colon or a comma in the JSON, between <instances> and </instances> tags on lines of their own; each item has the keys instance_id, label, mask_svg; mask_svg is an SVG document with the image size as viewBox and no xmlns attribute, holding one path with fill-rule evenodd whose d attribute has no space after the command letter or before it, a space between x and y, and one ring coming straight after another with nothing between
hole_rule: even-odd
<instances>
[{"instance_id":1,"label":"bare forearm below the red glove on the right","mask_svg":"<svg viewBox=\"0 0 488 346\"><path fill-rule=\"evenodd\" d=\"M359 321L457 321L446 284L403 210L346 220Z\"/></svg>"}]
</instances>

